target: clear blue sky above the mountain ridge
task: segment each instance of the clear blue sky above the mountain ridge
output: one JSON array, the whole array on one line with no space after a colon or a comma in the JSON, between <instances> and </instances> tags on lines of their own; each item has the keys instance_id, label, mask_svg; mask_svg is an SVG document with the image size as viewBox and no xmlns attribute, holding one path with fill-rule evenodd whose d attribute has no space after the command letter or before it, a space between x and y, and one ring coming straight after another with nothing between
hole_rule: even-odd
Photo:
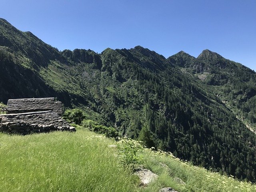
<instances>
[{"instance_id":1,"label":"clear blue sky above the mountain ridge","mask_svg":"<svg viewBox=\"0 0 256 192\"><path fill-rule=\"evenodd\" d=\"M256 71L256 0L0 0L0 17L59 50L209 49Z\"/></svg>"}]
</instances>

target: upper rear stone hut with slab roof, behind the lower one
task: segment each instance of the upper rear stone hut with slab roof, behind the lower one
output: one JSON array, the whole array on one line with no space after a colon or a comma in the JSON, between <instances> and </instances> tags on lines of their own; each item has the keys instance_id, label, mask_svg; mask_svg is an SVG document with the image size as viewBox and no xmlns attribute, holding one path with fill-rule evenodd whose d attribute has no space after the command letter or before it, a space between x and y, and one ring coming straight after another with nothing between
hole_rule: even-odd
<instances>
[{"instance_id":1,"label":"upper rear stone hut with slab roof, behind the lower one","mask_svg":"<svg viewBox=\"0 0 256 192\"><path fill-rule=\"evenodd\" d=\"M6 109L8 114L52 110L62 115L61 102L54 102L54 98L9 99Z\"/></svg>"}]
</instances>

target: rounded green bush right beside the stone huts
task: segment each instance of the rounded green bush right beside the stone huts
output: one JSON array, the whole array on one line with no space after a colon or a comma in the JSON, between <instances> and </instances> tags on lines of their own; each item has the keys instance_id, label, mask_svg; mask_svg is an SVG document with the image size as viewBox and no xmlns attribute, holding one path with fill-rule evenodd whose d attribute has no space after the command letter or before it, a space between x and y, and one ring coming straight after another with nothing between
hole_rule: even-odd
<instances>
[{"instance_id":1,"label":"rounded green bush right beside the stone huts","mask_svg":"<svg viewBox=\"0 0 256 192\"><path fill-rule=\"evenodd\" d=\"M85 114L81 109L68 109L64 112L63 118L66 119L68 122L74 122L75 124L80 125L82 120L85 118Z\"/></svg>"}]
</instances>

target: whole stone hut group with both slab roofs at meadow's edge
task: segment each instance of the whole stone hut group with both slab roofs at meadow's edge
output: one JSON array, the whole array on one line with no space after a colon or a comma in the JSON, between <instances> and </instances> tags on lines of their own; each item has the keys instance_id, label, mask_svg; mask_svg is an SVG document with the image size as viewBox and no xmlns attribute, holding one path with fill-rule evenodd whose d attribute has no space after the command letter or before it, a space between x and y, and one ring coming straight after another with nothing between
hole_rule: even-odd
<instances>
[{"instance_id":1,"label":"whole stone hut group with both slab roofs at meadow's edge","mask_svg":"<svg viewBox=\"0 0 256 192\"><path fill-rule=\"evenodd\" d=\"M0 115L0 131L15 134L76 131L61 118L61 102L54 98L9 99L6 114Z\"/></svg>"}]
</instances>

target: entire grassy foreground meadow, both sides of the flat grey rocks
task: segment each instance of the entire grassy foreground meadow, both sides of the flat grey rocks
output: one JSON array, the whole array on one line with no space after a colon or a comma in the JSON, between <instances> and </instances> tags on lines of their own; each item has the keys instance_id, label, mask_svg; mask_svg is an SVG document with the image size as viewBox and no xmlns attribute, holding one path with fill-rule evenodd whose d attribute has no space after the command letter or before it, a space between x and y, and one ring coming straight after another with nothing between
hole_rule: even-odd
<instances>
[{"instance_id":1,"label":"entire grassy foreground meadow, both sides of the flat grey rocks","mask_svg":"<svg viewBox=\"0 0 256 192\"><path fill-rule=\"evenodd\" d=\"M142 164L159 178L147 187L120 164L116 144L87 130L27 136L0 133L1 192L254 192L256 186L144 149Z\"/></svg>"}]
</instances>

